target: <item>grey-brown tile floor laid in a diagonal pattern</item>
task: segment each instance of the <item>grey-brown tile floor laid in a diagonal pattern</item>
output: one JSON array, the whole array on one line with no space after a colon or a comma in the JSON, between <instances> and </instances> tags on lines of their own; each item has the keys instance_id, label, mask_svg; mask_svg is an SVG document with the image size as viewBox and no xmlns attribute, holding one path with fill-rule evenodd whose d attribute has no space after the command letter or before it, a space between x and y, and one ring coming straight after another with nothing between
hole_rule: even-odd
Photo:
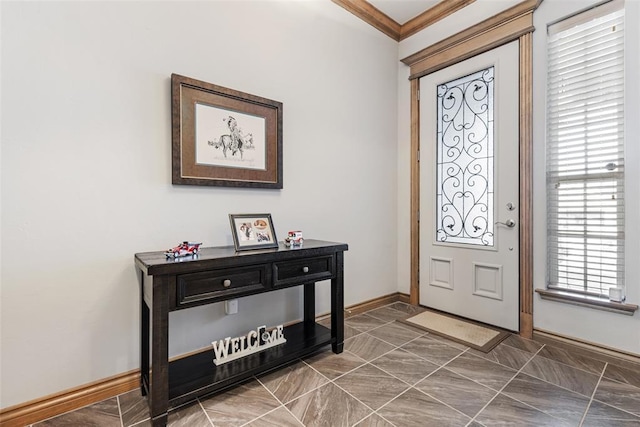
<instances>
[{"instance_id":1,"label":"grey-brown tile floor laid in a diagonal pattern","mask_svg":"<svg viewBox=\"0 0 640 427\"><path fill-rule=\"evenodd\" d=\"M170 426L640 426L640 365L513 335L488 354L395 322L394 303L345 321L345 351L202 398ZM34 424L150 426L139 391Z\"/></svg>"}]
</instances>

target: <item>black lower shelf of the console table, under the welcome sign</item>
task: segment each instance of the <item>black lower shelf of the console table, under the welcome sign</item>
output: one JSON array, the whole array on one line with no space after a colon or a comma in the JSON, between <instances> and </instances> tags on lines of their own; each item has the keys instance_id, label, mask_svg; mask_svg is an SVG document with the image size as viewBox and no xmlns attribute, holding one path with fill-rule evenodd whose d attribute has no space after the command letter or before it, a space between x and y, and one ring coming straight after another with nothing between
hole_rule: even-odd
<instances>
[{"instance_id":1,"label":"black lower shelf of the console table, under the welcome sign","mask_svg":"<svg viewBox=\"0 0 640 427\"><path fill-rule=\"evenodd\" d=\"M216 366L213 348L169 363L169 406L221 392L332 344L331 330L313 322L284 328L286 343Z\"/></svg>"}]
</instances>

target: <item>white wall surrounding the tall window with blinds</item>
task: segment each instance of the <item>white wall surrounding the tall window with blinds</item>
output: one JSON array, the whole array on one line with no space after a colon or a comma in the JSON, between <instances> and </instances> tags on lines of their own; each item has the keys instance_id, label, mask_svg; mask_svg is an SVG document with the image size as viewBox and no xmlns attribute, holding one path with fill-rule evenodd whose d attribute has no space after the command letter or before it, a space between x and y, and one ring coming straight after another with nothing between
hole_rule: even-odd
<instances>
[{"instance_id":1,"label":"white wall surrounding the tall window with blinds","mask_svg":"<svg viewBox=\"0 0 640 427\"><path fill-rule=\"evenodd\" d=\"M546 28L549 23L581 11L596 0L545 0L534 14L534 286L545 288L546 280L546 210L545 210L545 91ZM625 241L627 301L640 303L640 1L625 5ZM633 317L591 308L534 298L534 328L583 341L640 354L640 313Z\"/></svg>"}]
</instances>

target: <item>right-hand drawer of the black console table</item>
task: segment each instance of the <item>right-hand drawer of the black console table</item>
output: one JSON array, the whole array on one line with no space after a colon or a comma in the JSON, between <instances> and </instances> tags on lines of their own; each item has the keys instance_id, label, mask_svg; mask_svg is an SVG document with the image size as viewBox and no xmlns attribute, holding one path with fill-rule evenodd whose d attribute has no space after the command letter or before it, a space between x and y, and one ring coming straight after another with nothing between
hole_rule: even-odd
<instances>
[{"instance_id":1,"label":"right-hand drawer of the black console table","mask_svg":"<svg viewBox=\"0 0 640 427\"><path fill-rule=\"evenodd\" d=\"M331 279L335 270L335 257L332 255L299 261L275 262L273 263L273 284L285 286Z\"/></svg>"}]
</instances>

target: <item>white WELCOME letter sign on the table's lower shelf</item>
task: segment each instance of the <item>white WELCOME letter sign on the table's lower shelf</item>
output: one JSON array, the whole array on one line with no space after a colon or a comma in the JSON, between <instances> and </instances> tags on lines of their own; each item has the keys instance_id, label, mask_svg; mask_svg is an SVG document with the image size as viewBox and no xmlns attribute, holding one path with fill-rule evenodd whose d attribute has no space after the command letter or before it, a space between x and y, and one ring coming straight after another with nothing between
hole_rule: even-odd
<instances>
[{"instance_id":1,"label":"white WELCOME letter sign on the table's lower shelf","mask_svg":"<svg viewBox=\"0 0 640 427\"><path fill-rule=\"evenodd\" d=\"M240 359L253 353L284 344L287 340L284 338L283 326L278 325L270 331L266 326L260 326L246 335L231 338L227 337L223 340L213 341L213 352L216 358L213 363L222 365L232 360Z\"/></svg>"}]
</instances>

